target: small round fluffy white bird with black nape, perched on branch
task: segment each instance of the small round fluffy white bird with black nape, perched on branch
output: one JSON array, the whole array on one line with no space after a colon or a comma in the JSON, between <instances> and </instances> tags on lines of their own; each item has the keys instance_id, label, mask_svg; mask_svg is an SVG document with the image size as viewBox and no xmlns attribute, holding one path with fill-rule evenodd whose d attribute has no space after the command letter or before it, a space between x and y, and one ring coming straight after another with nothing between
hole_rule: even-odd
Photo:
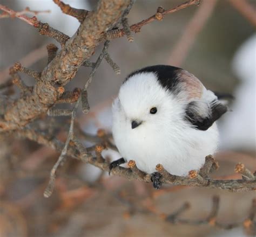
<instances>
[{"instance_id":1,"label":"small round fluffy white bird with black nape, perched on branch","mask_svg":"<svg viewBox=\"0 0 256 237\"><path fill-rule=\"evenodd\" d=\"M110 163L110 172L133 160L159 189L157 164L177 176L199 170L218 148L215 121L228 111L223 97L178 67L154 65L130 73L112 104L113 141L122 158Z\"/></svg>"}]
</instances>

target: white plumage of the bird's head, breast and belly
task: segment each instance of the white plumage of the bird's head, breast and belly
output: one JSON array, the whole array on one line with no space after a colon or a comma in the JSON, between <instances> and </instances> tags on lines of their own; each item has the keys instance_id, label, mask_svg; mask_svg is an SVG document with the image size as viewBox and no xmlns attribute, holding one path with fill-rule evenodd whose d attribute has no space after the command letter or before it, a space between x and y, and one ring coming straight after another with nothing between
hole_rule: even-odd
<instances>
[{"instance_id":1,"label":"white plumage of the bird's head, breast and belly","mask_svg":"<svg viewBox=\"0 0 256 237\"><path fill-rule=\"evenodd\" d=\"M204 88L198 100L206 105L202 113L214 96ZM215 123L206 131L193 128L183 119L186 105L185 99L163 88L154 73L133 75L124 82L112 106L113 138L120 154L147 173L155 172L157 164L180 176L200 169L205 156L217 149L218 129ZM152 107L157 107L156 114L150 114ZM131 129L132 120L143 122Z\"/></svg>"}]
</instances>

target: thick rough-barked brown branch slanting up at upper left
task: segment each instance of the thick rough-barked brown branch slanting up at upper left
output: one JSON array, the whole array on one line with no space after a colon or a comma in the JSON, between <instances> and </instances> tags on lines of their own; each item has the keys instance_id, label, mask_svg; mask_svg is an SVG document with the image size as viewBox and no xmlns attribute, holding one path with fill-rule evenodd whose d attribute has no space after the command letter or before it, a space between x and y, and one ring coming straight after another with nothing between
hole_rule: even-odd
<instances>
[{"instance_id":1,"label":"thick rough-barked brown branch slanting up at upper left","mask_svg":"<svg viewBox=\"0 0 256 237\"><path fill-rule=\"evenodd\" d=\"M0 130L25 126L35 120L58 100L57 86L65 86L76 75L78 68L95 51L99 38L119 20L129 5L128 0L102 0L96 11L90 12L77 33L42 71L41 80L31 96L9 105ZM97 24L95 24L97 22Z\"/></svg>"}]
</instances>

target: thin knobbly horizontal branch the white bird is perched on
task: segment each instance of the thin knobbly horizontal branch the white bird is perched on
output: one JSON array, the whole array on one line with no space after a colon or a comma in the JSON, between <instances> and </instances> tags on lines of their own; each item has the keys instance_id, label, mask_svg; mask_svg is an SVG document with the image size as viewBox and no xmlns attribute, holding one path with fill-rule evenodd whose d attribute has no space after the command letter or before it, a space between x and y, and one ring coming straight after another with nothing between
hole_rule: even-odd
<instances>
[{"instance_id":1,"label":"thin knobbly horizontal branch the white bird is perched on","mask_svg":"<svg viewBox=\"0 0 256 237\"><path fill-rule=\"evenodd\" d=\"M58 144L46 142L44 139L42 139L42 135L35 134L35 131L33 132L33 136L31 135L30 131L26 130L24 133L23 130L18 131L17 133L21 133L23 136L30 138L33 141L36 141L38 143L44 144L44 145L50 145L51 147L54 147L55 149L59 150L59 142ZM87 139L85 137L85 139ZM88 140L90 141L90 139ZM107 143L103 143L105 145ZM92 149L94 150L94 149ZM88 153L90 152L90 149L87 149ZM91 154L87 154L86 159L79 154L79 151L76 149L70 149L67 152L67 155L71 156L72 158L79 159L80 161L90 163L106 172L109 172L109 165L110 163L108 161L104 162L98 162L96 157L93 157ZM89 156L90 155L90 156ZM185 186L194 186L194 187L207 187L209 189L223 189L223 190L229 190L232 192L239 192L239 191L253 191L256 190L256 177L254 176L254 180L247 180L247 179L231 179L231 180L225 180L225 179L211 179L206 178L204 179L207 182L201 182L201 180L197 179L196 177L185 177L185 176L176 176L171 175L167 171L162 170L160 168L161 165L157 165L156 169L158 172L162 174L161 182L164 184L172 184L172 185L185 185ZM129 162L130 168L124 168L122 166L118 166L116 168L113 168L111 170L111 175L114 176L121 176L128 180L139 180L144 181L147 183L151 182L151 175L145 174L144 172L138 170L136 164L134 161ZM163 166L161 166L163 168ZM164 169L164 168L163 168ZM166 172L165 175L163 175L163 172ZM203 177L202 177L203 178Z\"/></svg>"}]
</instances>

